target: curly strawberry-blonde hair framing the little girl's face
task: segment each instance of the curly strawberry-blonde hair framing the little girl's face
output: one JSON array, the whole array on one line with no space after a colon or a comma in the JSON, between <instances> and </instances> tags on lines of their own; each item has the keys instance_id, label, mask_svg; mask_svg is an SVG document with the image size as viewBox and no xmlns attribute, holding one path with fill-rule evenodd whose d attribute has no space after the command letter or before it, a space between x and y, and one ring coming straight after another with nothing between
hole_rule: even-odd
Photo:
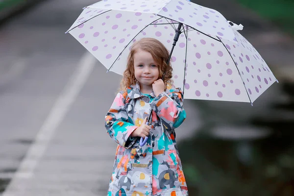
<instances>
[{"instance_id":1,"label":"curly strawberry-blonde hair framing the little girl's face","mask_svg":"<svg viewBox=\"0 0 294 196\"><path fill-rule=\"evenodd\" d=\"M127 58L126 69L123 72L123 78L121 81L120 91L125 91L127 87L130 85L136 84L135 71L134 71L134 54L138 51L138 49L142 49L144 51L149 52L155 62L159 65L159 77L162 78L163 74L165 90L167 88L167 83L172 84L172 65L171 62L167 64L167 60L169 59L170 53L165 46L154 38L142 38L141 40L135 42L130 49L130 53Z\"/></svg>"}]
</instances>

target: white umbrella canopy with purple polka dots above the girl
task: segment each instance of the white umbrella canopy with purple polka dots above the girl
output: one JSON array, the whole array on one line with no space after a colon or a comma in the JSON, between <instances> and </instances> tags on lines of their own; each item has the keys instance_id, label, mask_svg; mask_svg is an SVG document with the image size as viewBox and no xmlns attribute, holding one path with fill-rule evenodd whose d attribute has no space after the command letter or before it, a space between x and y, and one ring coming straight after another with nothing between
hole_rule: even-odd
<instances>
[{"instance_id":1,"label":"white umbrella canopy with purple polka dots above the girl","mask_svg":"<svg viewBox=\"0 0 294 196\"><path fill-rule=\"evenodd\" d=\"M68 30L109 71L122 74L133 42L172 48L173 81L184 98L253 102L276 81L260 54L216 10L186 0L104 0Z\"/></svg>"}]
</instances>

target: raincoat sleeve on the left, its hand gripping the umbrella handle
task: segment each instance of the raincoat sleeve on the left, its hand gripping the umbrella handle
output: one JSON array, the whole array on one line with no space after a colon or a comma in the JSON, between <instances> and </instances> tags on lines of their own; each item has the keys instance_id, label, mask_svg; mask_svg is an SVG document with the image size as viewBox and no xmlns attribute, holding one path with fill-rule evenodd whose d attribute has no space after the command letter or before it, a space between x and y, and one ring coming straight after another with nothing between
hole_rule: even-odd
<instances>
[{"instance_id":1,"label":"raincoat sleeve on the left, its hand gripping the umbrella handle","mask_svg":"<svg viewBox=\"0 0 294 196\"><path fill-rule=\"evenodd\" d=\"M125 108L125 97L122 93L117 94L107 112L105 127L109 136L124 148L129 148L136 142L136 139L130 135L138 126L129 122Z\"/></svg>"}]
</instances>

